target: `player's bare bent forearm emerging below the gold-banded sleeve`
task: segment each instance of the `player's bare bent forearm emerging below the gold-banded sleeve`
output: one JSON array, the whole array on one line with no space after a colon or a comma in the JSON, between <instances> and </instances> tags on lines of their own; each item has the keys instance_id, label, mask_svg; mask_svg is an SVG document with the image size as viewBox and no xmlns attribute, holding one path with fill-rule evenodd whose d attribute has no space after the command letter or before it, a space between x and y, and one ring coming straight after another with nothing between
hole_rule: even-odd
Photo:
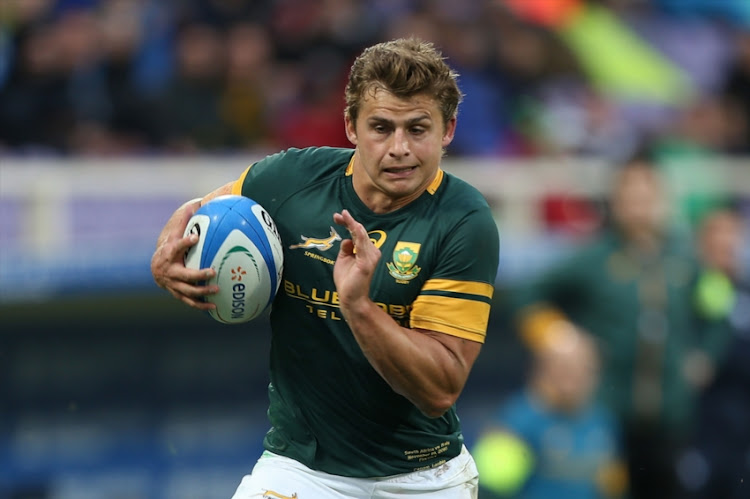
<instances>
[{"instance_id":1,"label":"player's bare bent forearm emerging below the gold-banded sleeve","mask_svg":"<svg viewBox=\"0 0 750 499\"><path fill-rule=\"evenodd\" d=\"M342 306L342 313L370 364L396 393L429 417L455 403L476 358L448 346L457 339L402 327L369 299ZM470 349L478 354L479 346Z\"/></svg>"}]
</instances>

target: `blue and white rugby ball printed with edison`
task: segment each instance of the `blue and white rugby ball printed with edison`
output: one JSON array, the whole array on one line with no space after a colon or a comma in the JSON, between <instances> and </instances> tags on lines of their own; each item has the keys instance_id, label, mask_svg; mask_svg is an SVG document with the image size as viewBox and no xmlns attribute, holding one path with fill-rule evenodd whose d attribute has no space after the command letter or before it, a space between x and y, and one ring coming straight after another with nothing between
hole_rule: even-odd
<instances>
[{"instance_id":1,"label":"blue and white rugby ball printed with edison","mask_svg":"<svg viewBox=\"0 0 750 499\"><path fill-rule=\"evenodd\" d=\"M212 268L206 281L219 292L204 299L216 305L211 317L239 324L259 317L270 306L281 282L283 246L271 216L245 196L226 195L201 206L185 227L198 242L185 254L185 266Z\"/></svg>"}]
</instances>

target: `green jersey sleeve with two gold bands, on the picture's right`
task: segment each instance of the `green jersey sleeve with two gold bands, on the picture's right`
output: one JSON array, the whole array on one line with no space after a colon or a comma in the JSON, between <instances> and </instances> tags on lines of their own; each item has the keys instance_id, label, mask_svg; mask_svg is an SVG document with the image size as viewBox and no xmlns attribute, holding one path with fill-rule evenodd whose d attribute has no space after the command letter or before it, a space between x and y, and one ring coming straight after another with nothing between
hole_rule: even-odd
<instances>
[{"instance_id":1,"label":"green jersey sleeve with two gold bands, on the picture's right","mask_svg":"<svg viewBox=\"0 0 750 499\"><path fill-rule=\"evenodd\" d=\"M484 343L497 276L499 236L489 207L462 218L414 301L411 327Z\"/></svg>"}]
</instances>

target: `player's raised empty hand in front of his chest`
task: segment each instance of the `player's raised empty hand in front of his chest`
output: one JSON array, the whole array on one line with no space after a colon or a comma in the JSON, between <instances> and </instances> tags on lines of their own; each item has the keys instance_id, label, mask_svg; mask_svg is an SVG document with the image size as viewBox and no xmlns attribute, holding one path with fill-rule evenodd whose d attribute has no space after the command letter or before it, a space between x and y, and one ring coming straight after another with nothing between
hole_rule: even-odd
<instances>
[{"instance_id":1,"label":"player's raised empty hand in front of his chest","mask_svg":"<svg viewBox=\"0 0 750 499\"><path fill-rule=\"evenodd\" d=\"M342 307L369 300L370 282L375 266L380 260L380 250L370 240L364 226L357 222L348 210L334 213L333 221L344 226L351 239L341 241L333 280Z\"/></svg>"}]
</instances>

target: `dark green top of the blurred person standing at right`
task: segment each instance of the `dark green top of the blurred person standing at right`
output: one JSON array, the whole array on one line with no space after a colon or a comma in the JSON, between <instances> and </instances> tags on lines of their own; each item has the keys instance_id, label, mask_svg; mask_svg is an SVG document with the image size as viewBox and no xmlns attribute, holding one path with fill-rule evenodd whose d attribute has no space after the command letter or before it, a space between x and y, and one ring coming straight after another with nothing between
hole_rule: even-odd
<instances>
[{"instance_id":1,"label":"dark green top of the blurred person standing at right","mask_svg":"<svg viewBox=\"0 0 750 499\"><path fill-rule=\"evenodd\" d=\"M730 335L726 321L700 317L694 308L698 267L690 248L689 239L677 238L658 257L639 259L607 233L509 293L512 309L546 304L562 310L598 338L598 397L618 418L681 433L695 396L683 372L685 355L700 349L718 359ZM635 375L647 372L641 364L647 359L660 399L655 414L635 404Z\"/></svg>"}]
</instances>

